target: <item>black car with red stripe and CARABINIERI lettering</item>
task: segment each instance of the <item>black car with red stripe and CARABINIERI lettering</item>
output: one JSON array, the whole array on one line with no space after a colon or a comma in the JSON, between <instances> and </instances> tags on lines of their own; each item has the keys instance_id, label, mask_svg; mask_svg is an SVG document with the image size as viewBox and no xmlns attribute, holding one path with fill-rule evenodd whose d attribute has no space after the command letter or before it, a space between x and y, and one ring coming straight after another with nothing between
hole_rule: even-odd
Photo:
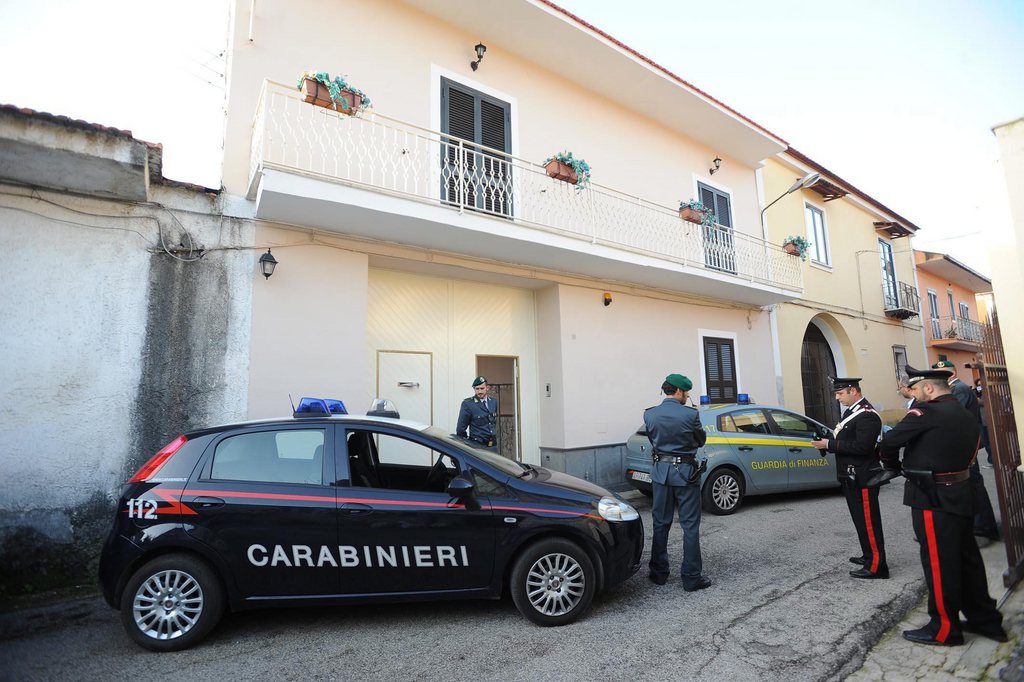
<instances>
[{"instance_id":1,"label":"black car with red stripe and CARABINIERI lettering","mask_svg":"<svg viewBox=\"0 0 1024 682\"><path fill-rule=\"evenodd\" d=\"M99 565L132 639L186 648L225 608L505 590L527 619L558 626L639 568L642 522L608 491L434 427L343 412L304 398L293 419L185 433L132 476Z\"/></svg>"}]
</instances>

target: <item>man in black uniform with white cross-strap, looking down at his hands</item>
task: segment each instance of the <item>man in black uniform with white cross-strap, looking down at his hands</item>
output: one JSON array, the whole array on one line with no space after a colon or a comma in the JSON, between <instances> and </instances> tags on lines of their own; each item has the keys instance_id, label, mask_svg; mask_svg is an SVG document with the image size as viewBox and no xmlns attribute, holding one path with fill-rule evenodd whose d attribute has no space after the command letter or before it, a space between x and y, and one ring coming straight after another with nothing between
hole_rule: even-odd
<instances>
[{"instance_id":1,"label":"man in black uniform with white cross-strap, looking down at his hands","mask_svg":"<svg viewBox=\"0 0 1024 682\"><path fill-rule=\"evenodd\" d=\"M861 568L851 570L850 574L884 580L889 578L889 564L879 510L879 486L866 484L879 467L882 418L860 392L860 377L837 377L833 388L844 408L836 436L819 438L811 444L836 454L836 473L860 541L860 556L851 556L850 561L859 563Z\"/></svg>"}]
</instances>

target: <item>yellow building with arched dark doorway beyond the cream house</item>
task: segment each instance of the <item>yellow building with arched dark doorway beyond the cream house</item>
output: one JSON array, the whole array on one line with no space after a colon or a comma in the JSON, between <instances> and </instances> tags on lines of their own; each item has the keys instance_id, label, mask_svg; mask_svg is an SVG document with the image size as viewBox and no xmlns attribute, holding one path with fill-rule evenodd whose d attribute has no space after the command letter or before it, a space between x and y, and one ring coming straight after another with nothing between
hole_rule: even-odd
<instances>
[{"instance_id":1,"label":"yellow building with arched dark doorway beyond the cream house","mask_svg":"<svg viewBox=\"0 0 1024 682\"><path fill-rule=\"evenodd\" d=\"M820 179L786 196L808 173ZM768 160L762 177L766 239L810 243L804 295L775 305L773 313L780 401L836 424L829 378L861 377L883 420L899 421L903 368L927 363L910 246L918 226L792 147Z\"/></svg>"}]
</instances>

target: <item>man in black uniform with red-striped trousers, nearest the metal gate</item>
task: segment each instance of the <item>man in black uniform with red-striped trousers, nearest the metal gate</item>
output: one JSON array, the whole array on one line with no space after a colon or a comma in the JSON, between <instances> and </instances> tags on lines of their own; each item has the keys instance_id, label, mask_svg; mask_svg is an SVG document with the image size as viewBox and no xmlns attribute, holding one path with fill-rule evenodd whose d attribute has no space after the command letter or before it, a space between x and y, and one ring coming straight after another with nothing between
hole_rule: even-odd
<instances>
[{"instance_id":1,"label":"man in black uniform with red-striped trousers, nearest the metal gate","mask_svg":"<svg viewBox=\"0 0 1024 682\"><path fill-rule=\"evenodd\" d=\"M972 531L976 500L969 468L978 452L978 422L950 393L948 372L907 366L906 373L918 404L886 433L881 450L891 477L904 449L903 504L910 508L921 544L931 621L904 631L903 637L955 646L964 643L966 630L1005 642L1002 615L988 595L985 564ZM966 622L959 620L962 610Z\"/></svg>"}]
</instances>

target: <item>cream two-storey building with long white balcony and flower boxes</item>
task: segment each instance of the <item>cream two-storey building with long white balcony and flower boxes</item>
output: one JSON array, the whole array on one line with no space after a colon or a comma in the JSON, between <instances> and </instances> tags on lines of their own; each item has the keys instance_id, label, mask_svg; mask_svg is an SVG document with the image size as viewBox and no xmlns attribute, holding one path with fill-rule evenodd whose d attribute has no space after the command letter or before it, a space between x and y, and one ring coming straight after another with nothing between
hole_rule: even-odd
<instances>
[{"instance_id":1,"label":"cream two-storey building with long white balcony and flower boxes","mask_svg":"<svg viewBox=\"0 0 1024 682\"><path fill-rule=\"evenodd\" d=\"M759 223L777 136L543 0L239 0L229 54L224 187L280 261L250 417L380 395L454 429L484 374L504 454L614 483L668 373L775 399L767 306L802 290ZM305 103L309 68L373 106ZM588 188L545 173L561 151ZM690 199L719 224L681 220Z\"/></svg>"}]
</instances>

